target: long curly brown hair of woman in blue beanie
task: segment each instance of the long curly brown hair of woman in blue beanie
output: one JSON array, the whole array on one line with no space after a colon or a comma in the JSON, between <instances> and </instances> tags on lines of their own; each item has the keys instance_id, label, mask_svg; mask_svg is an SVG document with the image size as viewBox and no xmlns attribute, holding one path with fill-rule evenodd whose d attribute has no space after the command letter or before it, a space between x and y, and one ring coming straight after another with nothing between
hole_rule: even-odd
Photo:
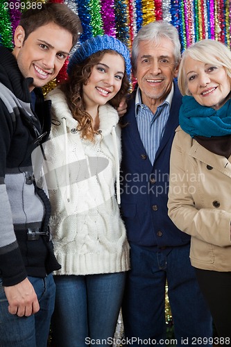
<instances>
[{"instance_id":1,"label":"long curly brown hair of woman in blue beanie","mask_svg":"<svg viewBox=\"0 0 231 347\"><path fill-rule=\"evenodd\" d=\"M71 69L71 74L65 83L60 88L65 93L67 98L67 104L71 110L72 116L78 121L77 130L81 132L81 136L93 141L94 134L97 133L92 126L92 117L85 110L85 102L83 100L83 85L87 84L89 76L91 76L92 67L97 65L105 53L119 54L112 50L99 51L92 56L89 56L84 62L76 65L74 69ZM121 83L121 89L112 98L109 103L114 108L119 106L119 103L123 96L127 96L130 83L126 72L123 76Z\"/></svg>"}]
</instances>

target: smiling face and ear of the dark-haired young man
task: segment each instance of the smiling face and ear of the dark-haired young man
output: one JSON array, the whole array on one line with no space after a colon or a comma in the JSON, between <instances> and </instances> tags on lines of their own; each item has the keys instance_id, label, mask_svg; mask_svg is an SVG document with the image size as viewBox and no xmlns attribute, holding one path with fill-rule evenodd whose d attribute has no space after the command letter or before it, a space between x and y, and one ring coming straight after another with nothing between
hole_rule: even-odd
<instances>
[{"instance_id":1,"label":"smiling face and ear of the dark-haired young man","mask_svg":"<svg viewBox=\"0 0 231 347\"><path fill-rule=\"evenodd\" d=\"M53 80L64 64L72 47L72 35L54 23L40 26L24 40L22 26L15 31L13 55L23 76L32 77L34 87L42 87Z\"/></svg>"}]
</instances>

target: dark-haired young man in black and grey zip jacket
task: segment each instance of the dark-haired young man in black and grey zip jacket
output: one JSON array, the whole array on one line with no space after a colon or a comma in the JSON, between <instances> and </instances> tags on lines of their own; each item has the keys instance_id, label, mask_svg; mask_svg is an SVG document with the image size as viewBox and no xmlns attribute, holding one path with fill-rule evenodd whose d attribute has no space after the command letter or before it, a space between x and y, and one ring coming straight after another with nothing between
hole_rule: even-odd
<instances>
[{"instance_id":1,"label":"dark-haired young man in black and grey zip jacket","mask_svg":"<svg viewBox=\"0 0 231 347\"><path fill-rule=\"evenodd\" d=\"M49 199L35 185L31 153L51 124L38 87L57 76L80 28L66 5L46 3L24 12L12 52L0 47L0 346L42 347L49 335L51 272L60 265L49 235Z\"/></svg>"}]
</instances>

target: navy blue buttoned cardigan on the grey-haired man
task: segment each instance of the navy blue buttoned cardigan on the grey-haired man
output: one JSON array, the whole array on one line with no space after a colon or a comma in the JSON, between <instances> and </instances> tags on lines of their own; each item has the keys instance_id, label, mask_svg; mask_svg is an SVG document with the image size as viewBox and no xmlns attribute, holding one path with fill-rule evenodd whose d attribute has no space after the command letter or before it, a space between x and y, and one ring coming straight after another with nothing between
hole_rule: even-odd
<instances>
[{"instance_id":1,"label":"navy blue buttoned cardigan on the grey-haired man","mask_svg":"<svg viewBox=\"0 0 231 347\"><path fill-rule=\"evenodd\" d=\"M152 165L139 136L135 119L135 92L123 116L121 162L121 214L128 241L140 246L171 247L190 242L168 216L169 159L178 127L182 96L174 82L169 119Z\"/></svg>"}]
</instances>

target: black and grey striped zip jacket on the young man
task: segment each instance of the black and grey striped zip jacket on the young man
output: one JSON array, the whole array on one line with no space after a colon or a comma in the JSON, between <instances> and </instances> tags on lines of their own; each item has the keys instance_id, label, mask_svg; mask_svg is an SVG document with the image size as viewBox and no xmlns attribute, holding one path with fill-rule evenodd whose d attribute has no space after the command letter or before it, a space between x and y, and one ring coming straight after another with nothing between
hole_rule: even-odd
<instances>
[{"instance_id":1,"label":"black and grey striped zip jacket on the young man","mask_svg":"<svg viewBox=\"0 0 231 347\"><path fill-rule=\"evenodd\" d=\"M45 230L50 214L49 199L36 187L31 164L37 137L49 133L50 103L35 90L35 115L30 83L12 53L0 46L0 277L6 286L26 276L44 277L55 264L50 264L46 237L36 241L26 237L28 228Z\"/></svg>"}]
</instances>

